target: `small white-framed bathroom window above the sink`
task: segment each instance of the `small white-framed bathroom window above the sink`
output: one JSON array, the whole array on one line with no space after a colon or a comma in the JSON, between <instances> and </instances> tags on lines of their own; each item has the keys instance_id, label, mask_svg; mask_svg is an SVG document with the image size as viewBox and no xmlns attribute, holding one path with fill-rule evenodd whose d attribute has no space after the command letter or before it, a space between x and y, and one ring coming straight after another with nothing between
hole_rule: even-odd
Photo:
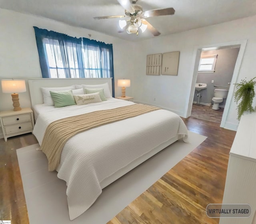
<instances>
[{"instance_id":1,"label":"small white-framed bathroom window above the sink","mask_svg":"<svg viewBox=\"0 0 256 224\"><path fill-rule=\"evenodd\" d=\"M218 54L201 56L198 67L200 73L214 73Z\"/></svg>"}]
</instances>

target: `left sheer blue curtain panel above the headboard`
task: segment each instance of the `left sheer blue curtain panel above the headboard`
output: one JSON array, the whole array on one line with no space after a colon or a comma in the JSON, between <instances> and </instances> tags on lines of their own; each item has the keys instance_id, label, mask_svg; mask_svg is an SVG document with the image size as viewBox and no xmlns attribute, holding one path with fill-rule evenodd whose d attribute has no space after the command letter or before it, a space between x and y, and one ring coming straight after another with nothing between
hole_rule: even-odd
<instances>
[{"instance_id":1,"label":"left sheer blue curtain panel above the headboard","mask_svg":"<svg viewBox=\"0 0 256 224\"><path fill-rule=\"evenodd\" d=\"M51 77L50 69L56 69L57 77L63 77L61 74L64 74L66 78L84 78L82 52L80 50L82 38L70 37L35 26L34 30L43 78Z\"/></svg>"}]
</instances>

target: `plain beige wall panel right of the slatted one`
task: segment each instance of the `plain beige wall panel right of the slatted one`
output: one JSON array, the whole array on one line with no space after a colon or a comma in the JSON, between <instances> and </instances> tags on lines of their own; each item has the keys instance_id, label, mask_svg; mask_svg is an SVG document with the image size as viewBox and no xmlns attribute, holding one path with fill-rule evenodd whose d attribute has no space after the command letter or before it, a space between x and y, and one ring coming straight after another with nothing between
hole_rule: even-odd
<instances>
[{"instance_id":1,"label":"plain beige wall panel right of the slatted one","mask_svg":"<svg viewBox=\"0 0 256 224\"><path fill-rule=\"evenodd\" d=\"M178 75L180 52L168 52L163 54L162 75Z\"/></svg>"}]
</instances>

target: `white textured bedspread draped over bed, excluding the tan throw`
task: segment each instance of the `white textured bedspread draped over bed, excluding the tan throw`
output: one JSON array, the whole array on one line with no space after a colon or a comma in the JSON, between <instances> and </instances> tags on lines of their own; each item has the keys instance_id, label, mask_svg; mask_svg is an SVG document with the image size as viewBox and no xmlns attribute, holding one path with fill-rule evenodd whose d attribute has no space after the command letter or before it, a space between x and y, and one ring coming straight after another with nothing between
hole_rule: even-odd
<instances>
[{"instance_id":1,"label":"white textured bedspread draped over bed, excluding the tan throw","mask_svg":"<svg viewBox=\"0 0 256 224\"><path fill-rule=\"evenodd\" d=\"M101 103L56 108L40 113L33 133L41 145L44 132L53 121L130 104L133 102L111 98ZM94 203L105 178L177 135L186 140L187 129L182 119L160 109L90 129L68 140L57 171L58 178L67 183L70 220Z\"/></svg>"}]
</instances>

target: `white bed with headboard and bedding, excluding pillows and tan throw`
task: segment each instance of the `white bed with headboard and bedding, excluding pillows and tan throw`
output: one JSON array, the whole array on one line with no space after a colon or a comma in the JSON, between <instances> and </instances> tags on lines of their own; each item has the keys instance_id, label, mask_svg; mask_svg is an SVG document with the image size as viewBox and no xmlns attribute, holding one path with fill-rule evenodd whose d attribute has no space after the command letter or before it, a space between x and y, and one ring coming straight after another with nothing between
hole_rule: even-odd
<instances>
[{"instance_id":1,"label":"white bed with headboard and bedding, excluding pillows and tan throw","mask_svg":"<svg viewBox=\"0 0 256 224\"><path fill-rule=\"evenodd\" d=\"M48 125L54 121L94 111L98 113L137 106L136 103L112 96L107 97L106 101L85 105L60 108L43 105L41 87L108 83L111 93L111 79L29 79L28 83L36 120L33 133L40 146ZM186 126L178 115L156 109L89 129L68 139L56 170L58 178L67 184L70 220L90 208L104 187L178 139L186 141L187 136Z\"/></svg>"}]
</instances>

